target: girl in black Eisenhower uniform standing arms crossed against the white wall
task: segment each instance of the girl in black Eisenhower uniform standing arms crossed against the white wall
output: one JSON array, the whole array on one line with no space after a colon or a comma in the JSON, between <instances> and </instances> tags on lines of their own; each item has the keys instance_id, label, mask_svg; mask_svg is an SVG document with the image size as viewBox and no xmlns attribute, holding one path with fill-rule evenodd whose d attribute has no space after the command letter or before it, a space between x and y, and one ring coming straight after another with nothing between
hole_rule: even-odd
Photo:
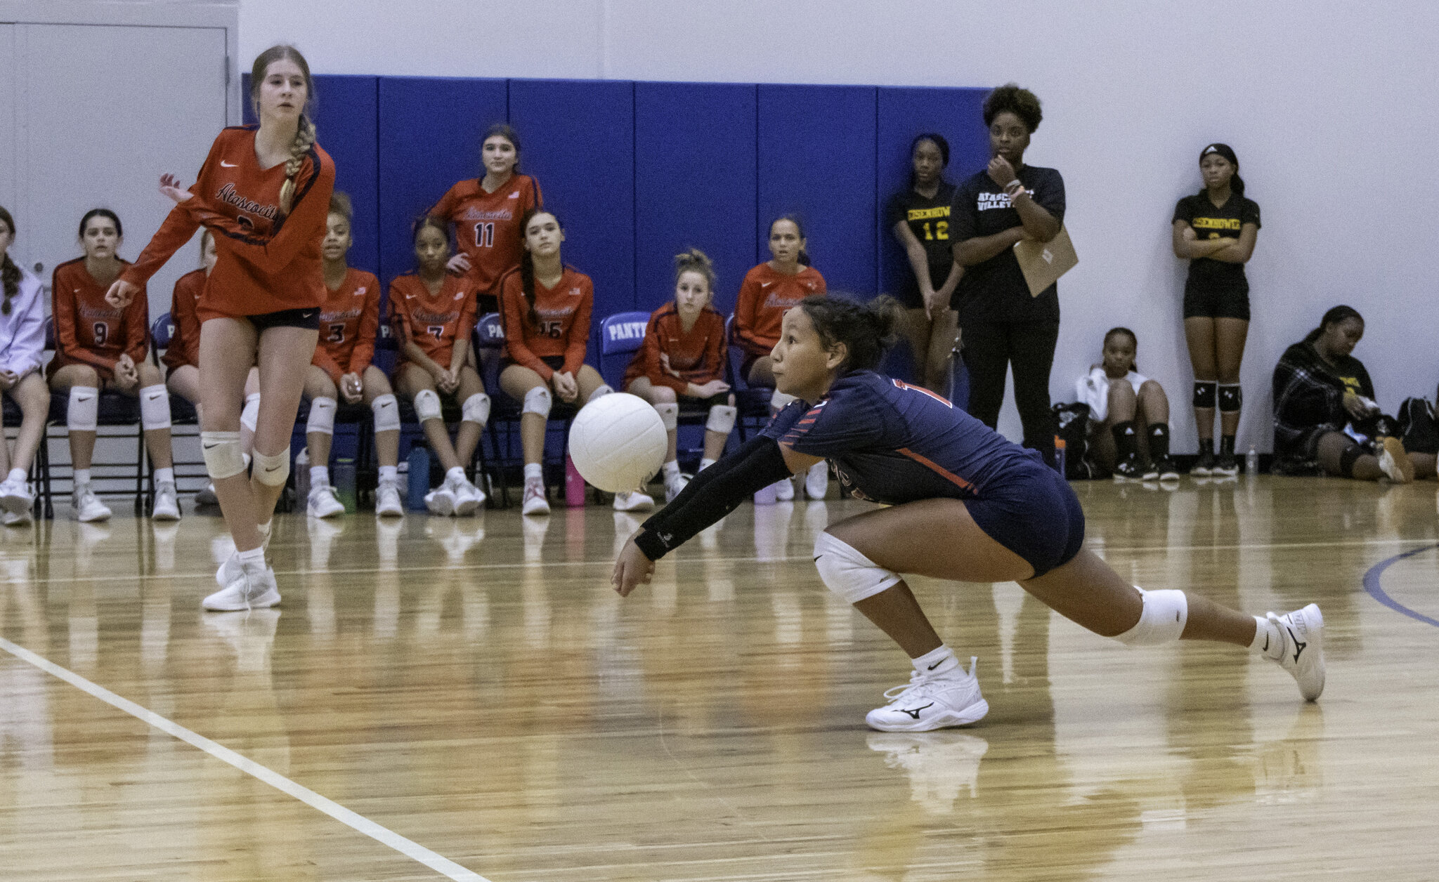
<instances>
[{"instance_id":1,"label":"girl in black Eisenhower uniform standing arms crossed against the white wall","mask_svg":"<svg viewBox=\"0 0 1439 882\"><path fill-rule=\"evenodd\" d=\"M1174 256L1189 260L1184 281L1184 341L1194 368L1194 475L1236 475L1235 435L1243 393L1239 363L1249 335L1249 279L1245 263L1259 237L1259 204L1245 199L1239 158L1227 144L1199 154L1204 187L1174 206ZM1219 403L1219 456L1215 458L1215 403Z\"/></svg>"}]
</instances>

